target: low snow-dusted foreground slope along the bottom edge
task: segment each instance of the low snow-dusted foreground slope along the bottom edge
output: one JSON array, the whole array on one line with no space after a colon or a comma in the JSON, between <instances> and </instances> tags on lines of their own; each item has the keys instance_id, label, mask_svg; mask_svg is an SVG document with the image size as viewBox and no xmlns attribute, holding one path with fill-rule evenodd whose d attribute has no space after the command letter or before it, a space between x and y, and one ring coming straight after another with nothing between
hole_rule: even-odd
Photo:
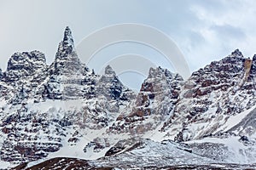
<instances>
[{"instance_id":1,"label":"low snow-dusted foreground slope along the bottom edge","mask_svg":"<svg viewBox=\"0 0 256 170\"><path fill-rule=\"evenodd\" d=\"M123 140L119 144L115 144L108 150L106 156L92 161L74 160L67 158L60 158L59 161L53 161L53 167L74 167L76 161L84 162L83 169L97 169L97 168L116 168L116 169L170 169L172 168L253 168L256 164L252 161L252 156L256 154L255 145L249 148L248 145L242 144L236 137L230 139L204 139L187 144L178 144L171 140L164 140L162 142L154 142L150 139L130 139L129 141L136 141L133 144L128 144L128 140ZM238 144L235 147L235 144ZM246 153L247 150L253 150ZM242 150L237 152L237 150ZM247 163L241 161L238 157L242 154L247 155ZM244 156L243 156L244 157ZM236 161L240 160L240 162ZM49 160L50 161L50 160ZM49 161L33 165L29 163L26 166L28 169L34 169L37 166L45 168L49 166ZM61 161L63 161L61 163ZM48 162L48 163L46 163ZM65 163L64 163L65 162ZM235 162L235 163L234 163ZM239 163L239 164L238 164Z\"/></svg>"}]
</instances>

